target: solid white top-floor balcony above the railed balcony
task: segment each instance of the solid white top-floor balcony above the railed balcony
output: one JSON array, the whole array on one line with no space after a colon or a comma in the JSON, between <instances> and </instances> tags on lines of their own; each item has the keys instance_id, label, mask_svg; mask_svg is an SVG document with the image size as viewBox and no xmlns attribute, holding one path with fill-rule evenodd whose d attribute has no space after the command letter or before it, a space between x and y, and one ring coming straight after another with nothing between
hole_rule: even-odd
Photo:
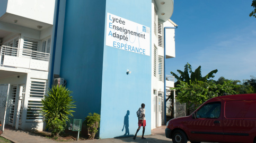
<instances>
[{"instance_id":1,"label":"solid white top-floor balcony above the railed balcony","mask_svg":"<svg viewBox=\"0 0 256 143\"><path fill-rule=\"evenodd\" d=\"M0 4L0 21L44 30L53 24L55 1L13 1L2 0ZM41 26L38 28L37 26Z\"/></svg>"}]
</instances>

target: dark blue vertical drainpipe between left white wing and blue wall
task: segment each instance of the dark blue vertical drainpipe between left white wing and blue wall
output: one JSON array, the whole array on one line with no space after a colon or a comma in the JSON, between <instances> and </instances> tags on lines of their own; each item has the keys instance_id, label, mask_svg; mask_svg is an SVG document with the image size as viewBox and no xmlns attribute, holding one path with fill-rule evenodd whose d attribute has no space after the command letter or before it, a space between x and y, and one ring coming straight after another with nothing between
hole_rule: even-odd
<instances>
[{"instance_id":1,"label":"dark blue vertical drainpipe between left white wing and blue wall","mask_svg":"<svg viewBox=\"0 0 256 143\"><path fill-rule=\"evenodd\" d=\"M54 78L54 62L55 62L55 52L56 52L56 41L57 41L57 31L58 31L58 21L59 21L59 3L60 0L56 2L56 17L55 17L55 29L54 29L54 44L52 45L52 58L51 58L51 72L50 72L50 85L52 85L52 80ZM50 87L51 88L51 87Z\"/></svg>"}]
</instances>

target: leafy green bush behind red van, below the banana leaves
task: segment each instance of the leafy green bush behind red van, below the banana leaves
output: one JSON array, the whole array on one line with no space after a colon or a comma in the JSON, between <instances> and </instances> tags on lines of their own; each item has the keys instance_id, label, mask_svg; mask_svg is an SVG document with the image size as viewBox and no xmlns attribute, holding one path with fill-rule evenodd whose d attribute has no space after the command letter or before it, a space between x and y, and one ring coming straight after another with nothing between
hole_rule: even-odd
<instances>
[{"instance_id":1,"label":"leafy green bush behind red van, below the banana leaves","mask_svg":"<svg viewBox=\"0 0 256 143\"><path fill-rule=\"evenodd\" d=\"M233 90L236 85L232 81L224 81L223 84L215 84L213 81L191 81L190 84L181 81L177 85L176 91L179 96L176 97L181 103L186 103L187 115L196 110L202 103L210 98L223 96L223 93L236 94Z\"/></svg>"}]
</instances>

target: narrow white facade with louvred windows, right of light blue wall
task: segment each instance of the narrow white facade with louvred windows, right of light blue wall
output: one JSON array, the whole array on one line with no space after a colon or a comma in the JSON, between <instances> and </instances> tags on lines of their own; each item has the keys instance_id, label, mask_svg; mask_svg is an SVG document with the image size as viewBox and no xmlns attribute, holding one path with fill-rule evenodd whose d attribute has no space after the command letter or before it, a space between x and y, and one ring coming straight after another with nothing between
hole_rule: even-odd
<instances>
[{"instance_id":1,"label":"narrow white facade with louvred windows, right of light blue wall","mask_svg":"<svg viewBox=\"0 0 256 143\"><path fill-rule=\"evenodd\" d=\"M164 72L165 59L175 58L175 28L178 25L169 19L172 14L173 1L152 1L151 129L165 124L165 99L174 87L174 77Z\"/></svg>"}]
</instances>

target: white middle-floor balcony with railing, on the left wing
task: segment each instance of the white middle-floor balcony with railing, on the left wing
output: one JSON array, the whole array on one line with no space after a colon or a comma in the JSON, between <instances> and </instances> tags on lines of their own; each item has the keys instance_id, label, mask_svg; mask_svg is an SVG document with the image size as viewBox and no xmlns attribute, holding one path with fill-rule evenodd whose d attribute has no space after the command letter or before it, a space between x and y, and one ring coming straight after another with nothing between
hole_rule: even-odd
<instances>
[{"instance_id":1,"label":"white middle-floor balcony with railing, on the left wing","mask_svg":"<svg viewBox=\"0 0 256 143\"><path fill-rule=\"evenodd\" d=\"M0 70L15 68L21 70L14 69L12 71L20 72L22 69L48 71L49 59L49 53L10 46L0 47Z\"/></svg>"}]
</instances>

